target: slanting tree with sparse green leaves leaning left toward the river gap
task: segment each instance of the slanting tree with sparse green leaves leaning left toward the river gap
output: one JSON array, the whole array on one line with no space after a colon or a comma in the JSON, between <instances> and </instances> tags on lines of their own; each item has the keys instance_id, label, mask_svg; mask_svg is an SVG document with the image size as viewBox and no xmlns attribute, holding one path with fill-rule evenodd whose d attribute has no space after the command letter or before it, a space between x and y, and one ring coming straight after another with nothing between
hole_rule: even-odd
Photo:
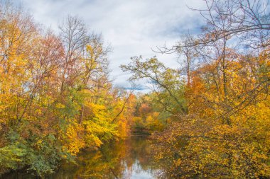
<instances>
[{"instance_id":1,"label":"slanting tree with sparse green leaves leaning left toward the river gap","mask_svg":"<svg viewBox=\"0 0 270 179\"><path fill-rule=\"evenodd\" d=\"M175 114L173 109L177 109L181 114L187 112L185 101L183 100L183 80L177 70L166 68L156 57L140 62L141 57L131 58L133 62L128 65L121 65L123 71L130 71L134 75L130 80L149 79L153 86L153 91L158 97L158 102L163 105L163 109ZM168 105L171 103L171 105ZM173 108L171 108L173 106Z\"/></svg>"}]
</instances>

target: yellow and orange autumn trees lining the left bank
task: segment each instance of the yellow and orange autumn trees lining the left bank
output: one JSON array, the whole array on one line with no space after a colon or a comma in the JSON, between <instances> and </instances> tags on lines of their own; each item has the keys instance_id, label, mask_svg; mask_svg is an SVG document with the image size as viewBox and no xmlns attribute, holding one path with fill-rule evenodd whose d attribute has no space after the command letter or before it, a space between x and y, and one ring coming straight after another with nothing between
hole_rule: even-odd
<instances>
[{"instance_id":1,"label":"yellow and orange autumn trees lining the left bank","mask_svg":"<svg viewBox=\"0 0 270 179\"><path fill-rule=\"evenodd\" d=\"M129 93L112 88L102 37L68 16L60 35L0 7L0 166L43 176L81 149L123 139Z\"/></svg>"}]
</instances>

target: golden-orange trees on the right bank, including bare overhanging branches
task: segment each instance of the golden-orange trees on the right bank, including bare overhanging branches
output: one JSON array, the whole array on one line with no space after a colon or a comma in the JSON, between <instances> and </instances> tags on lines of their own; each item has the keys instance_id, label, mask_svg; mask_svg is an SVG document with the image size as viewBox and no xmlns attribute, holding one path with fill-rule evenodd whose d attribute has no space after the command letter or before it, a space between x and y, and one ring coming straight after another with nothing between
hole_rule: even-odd
<instances>
[{"instance_id":1,"label":"golden-orange trees on the right bank, including bare overhanging branches","mask_svg":"<svg viewBox=\"0 0 270 179\"><path fill-rule=\"evenodd\" d=\"M206 23L198 37L159 49L188 48L194 50L193 60L200 58L189 73L188 88L178 73L170 73L170 83L164 83L166 73L157 69L168 68L156 59L133 59L124 66L134 74L131 79L150 79L167 92L158 103L171 107L174 120L152 137L156 160L162 163L161 178L267 178L268 4L213 0L205 5L207 9L198 10Z\"/></svg>"}]
</instances>

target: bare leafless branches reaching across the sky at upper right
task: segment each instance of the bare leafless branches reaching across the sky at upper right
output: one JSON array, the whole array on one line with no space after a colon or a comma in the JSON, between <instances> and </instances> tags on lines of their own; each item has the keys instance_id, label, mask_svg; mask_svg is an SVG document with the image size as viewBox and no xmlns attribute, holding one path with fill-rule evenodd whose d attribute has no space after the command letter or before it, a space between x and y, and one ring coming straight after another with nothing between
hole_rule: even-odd
<instances>
[{"instance_id":1,"label":"bare leafless branches reaching across the sky at upper right","mask_svg":"<svg viewBox=\"0 0 270 179\"><path fill-rule=\"evenodd\" d=\"M269 0L205 0L199 11L206 25L197 39L185 45L158 47L159 52L172 53L183 46L208 45L217 40L234 40L244 48L261 50L270 45Z\"/></svg>"}]
</instances>

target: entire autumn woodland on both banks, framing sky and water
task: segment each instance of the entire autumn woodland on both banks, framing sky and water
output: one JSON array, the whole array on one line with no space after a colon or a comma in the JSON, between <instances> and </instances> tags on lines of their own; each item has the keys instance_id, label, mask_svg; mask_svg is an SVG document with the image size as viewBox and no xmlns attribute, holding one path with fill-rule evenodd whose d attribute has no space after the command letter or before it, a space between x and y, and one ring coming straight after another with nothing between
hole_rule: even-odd
<instances>
[{"instance_id":1,"label":"entire autumn woodland on both banks, framing sky and water","mask_svg":"<svg viewBox=\"0 0 270 179\"><path fill-rule=\"evenodd\" d=\"M148 93L114 87L102 35L77 16L59 33L0 6L0 174L40 177L80 151L151 135L158 178L270 177L269 1L205 0L204 26L121 65Z\"/></svg>"}]
</instances>

